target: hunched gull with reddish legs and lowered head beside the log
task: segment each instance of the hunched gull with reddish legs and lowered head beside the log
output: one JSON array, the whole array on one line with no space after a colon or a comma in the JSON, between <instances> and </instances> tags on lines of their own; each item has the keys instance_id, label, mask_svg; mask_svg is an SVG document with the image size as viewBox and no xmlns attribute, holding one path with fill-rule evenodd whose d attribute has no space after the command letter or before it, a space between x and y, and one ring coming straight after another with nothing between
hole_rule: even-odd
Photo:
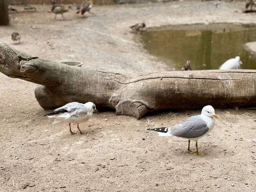
<instances>
[{"instance_id":1,"label":"hunched gull with reddish legs and lowered head beside the log","mask_svg":"<svg viewBox=\"0 0 256 192\"><path fill-rule=\"evenodd\" d=\"M55 118L54 123L58 123L61 121L68 122L70 126L70 133L75 134L71 131L71 123L77 124L77 128L82 134L81 130L79 129L79 123L86 122L93 116L93 111L99 113L96 110L96 106L93 102L87 102L85 104L79 102L71 102L67 103L66 105L55 109L52 113L48 113L44 116L49 118Z\"/></svg>"}]
</instances>

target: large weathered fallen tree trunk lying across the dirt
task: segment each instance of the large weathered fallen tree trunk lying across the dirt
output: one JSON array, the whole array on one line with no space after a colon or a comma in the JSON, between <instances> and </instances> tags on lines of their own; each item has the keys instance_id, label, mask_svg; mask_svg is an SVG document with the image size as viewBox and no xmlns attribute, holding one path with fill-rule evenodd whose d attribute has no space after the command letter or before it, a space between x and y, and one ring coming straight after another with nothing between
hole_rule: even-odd
<instances>
[{"instance_id":1,"label":"large weathered fallen tree trunk lying across the dirt","mask_svg":"<svg viewBox=\"0 0 256 192\"><path fill-rule=\"evenodd\" d=\"M157 109L256 105L256 70L108 73L32 57L0 42L0 72L40 84L35 97L44 109L91 101L140 118Z\"/></svg>"}]
</instances>

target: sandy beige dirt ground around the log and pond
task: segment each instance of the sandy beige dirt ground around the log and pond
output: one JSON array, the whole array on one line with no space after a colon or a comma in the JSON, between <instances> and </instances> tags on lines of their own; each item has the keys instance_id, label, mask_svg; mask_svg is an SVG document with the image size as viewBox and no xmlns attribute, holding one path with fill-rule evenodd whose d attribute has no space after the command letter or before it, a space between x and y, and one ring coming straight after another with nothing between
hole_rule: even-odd
<instances>
[{"instance_id":1,"label":"sandy beige dirt ground around the log and pond","mask_svg":"<svg viewBox=\"0 0 256 192\"><path fill-rule=\"evenodd\" d=\"M0 27L0 40L33 56L131 73L170 70L139 44L128 27L134 23L256 23L255 14L242 13L244 2L95 6L96 15L81 18L70 10L66 20L54 20L50 6L36 7L21 12L14 6L20 12ZM13 44L14 31L21 44ZM174 125L201 110L157 111L139 120L104 111L80 125L85 134L71 135L67 123L43 116L48 111L38 105L35 87L0 73L0 192L255 191L255 110L216 108L220 118L198 141L207 154L200 157L186 151L187 140L145 129Z\"/></svg>"}]
</instances>

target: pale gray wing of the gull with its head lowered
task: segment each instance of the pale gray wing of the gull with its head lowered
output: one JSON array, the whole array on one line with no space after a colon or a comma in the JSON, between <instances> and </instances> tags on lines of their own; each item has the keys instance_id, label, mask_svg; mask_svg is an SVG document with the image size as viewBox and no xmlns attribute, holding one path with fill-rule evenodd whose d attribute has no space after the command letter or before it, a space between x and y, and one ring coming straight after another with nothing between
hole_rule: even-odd
<instances>
[{"instance_id":1,"label":"pale gray wing of the gull with its head lowered","mask_svg":"<svg viewBox=\"0 0 256 192\"><path fill-rule=\"evenodd\" d=\"M54 111L58 112L58 111L63 111L63 110L66 110L67 112L69 112L70 116L75 115L77 113L85 113L85 114L88 113L87 108L85 108L84 105L79 102L67 103L66 105L64 105L58 109L55 109Z\"/></svg>"}]
</instances>

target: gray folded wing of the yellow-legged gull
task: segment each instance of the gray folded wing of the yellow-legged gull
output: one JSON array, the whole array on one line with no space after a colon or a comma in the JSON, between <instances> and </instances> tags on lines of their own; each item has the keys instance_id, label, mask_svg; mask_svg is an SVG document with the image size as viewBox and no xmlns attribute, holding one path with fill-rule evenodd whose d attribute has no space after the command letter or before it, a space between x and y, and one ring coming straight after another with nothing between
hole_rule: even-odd
<instances>
[{"instance_id":1,"label":"gray folded wing of the yellow-legged gull","mask_svg":"<svg viewBox=\"0 0 256 192\"><path fill-rule=\"evenodd\" d=\"M200 116L192 116L184 122L168 128L173 136L183 138L201 137L209 131L207 122L201 119Z\"/></svg>"}]
</instances>

